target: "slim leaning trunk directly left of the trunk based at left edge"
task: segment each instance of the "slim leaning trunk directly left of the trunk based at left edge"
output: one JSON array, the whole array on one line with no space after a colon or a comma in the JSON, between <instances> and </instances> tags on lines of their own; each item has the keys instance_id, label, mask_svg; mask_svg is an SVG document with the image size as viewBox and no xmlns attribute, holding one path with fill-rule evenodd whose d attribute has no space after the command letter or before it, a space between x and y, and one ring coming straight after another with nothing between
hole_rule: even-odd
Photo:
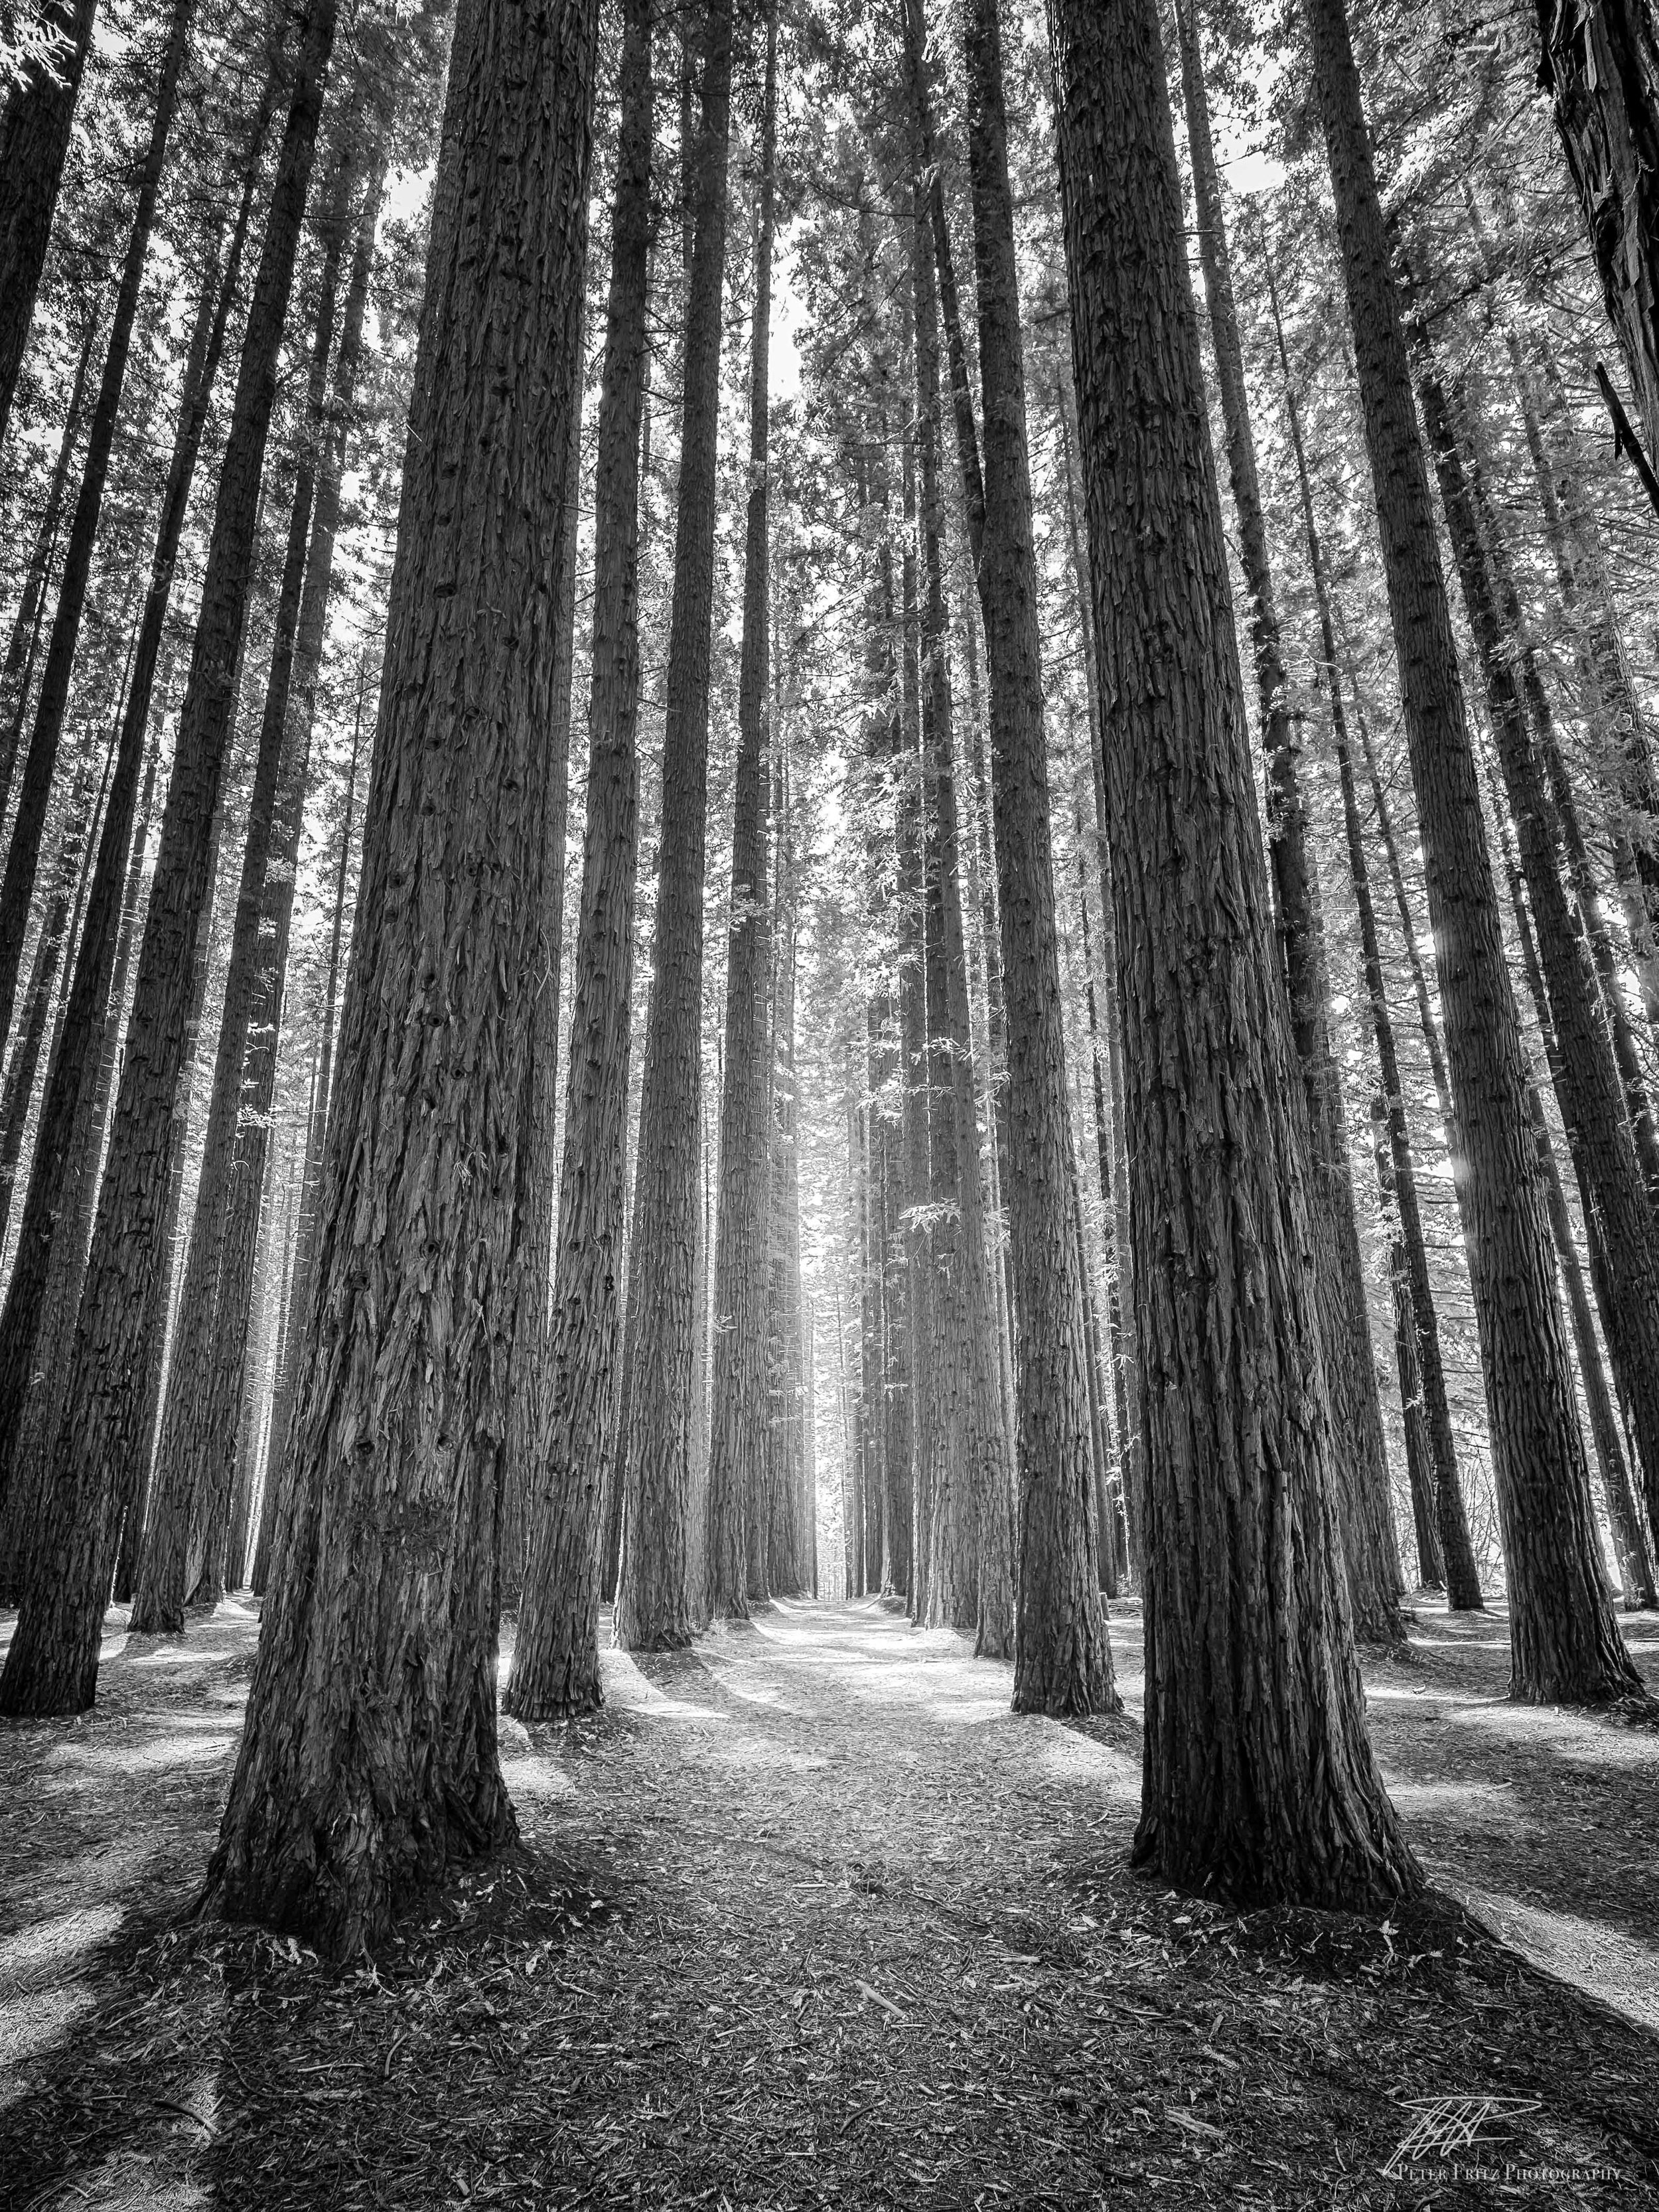
<instances>
[{"instance_id":1,"label":"slim leaning trunk directly left of the trunk based at left edge","mask_svg":"<svg viewBox=\"0 0 1659 2212\"><path fill-rule=\"evenodd\" d=\"M64 1040L46 1077L46 1097L40 1108L35 1152L29 1168L29 1194L18 1230L18 1254L11 1281L7 1283L4 1310L0 1310L0 1495L4 1495L7 1484L20 1467L24 1420L31 1431L40 1431L40 1442L22 1455L35 1475L55 1433L58 1356L53 1352L53 1358L40 1363L38 1352L66 1343L80 1303L108 1095L115 1084L126 964L137 927L137 889L144 869L144 838L155 781L153 748L148 750L148 770L144 770L146 783L137 832L133 830L133 805L139 770L146 761L155 670L168 602L173 597L179 538L190 504L190 482L201 451L201 434L208 420L208 400L219 372L219 356L223 354L230 303L237 292L259 150L270 124L272 91L274 86L268 82L252 131L241 206L223 272L215 270L212 259L208 261L197 303L179 398L179 427L161 491L155 551L150 555L150 584L133 653L133 672L126 686L122 734L115 745L115 774L111 779L104 830L97 841L75 975L69 989ZM168 686L170 672L161 690L166 692ZM124 874L126 894L122 894ZM73 1239L60 1243L60 1223L69 1221L75 1223ZM51 1407L42 1402L40 1385L35 1383L38 1374L46 1383L53 1400ZM133 1515L124 1517L133 1520ZM133 1535L137 1537L137 1531ZM122 1553L126 1551L128 1544L124 1542ZM131 1593L131 1575L124 1582L126 1588L122 1595L126 1597Z\"/></svg>"}]
</instances>

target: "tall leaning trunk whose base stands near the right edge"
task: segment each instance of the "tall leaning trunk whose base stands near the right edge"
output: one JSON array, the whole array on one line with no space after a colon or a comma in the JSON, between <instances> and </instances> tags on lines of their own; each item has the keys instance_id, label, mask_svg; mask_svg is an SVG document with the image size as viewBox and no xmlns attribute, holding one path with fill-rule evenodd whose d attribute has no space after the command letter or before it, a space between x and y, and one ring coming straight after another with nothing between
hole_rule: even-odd
<instances>
[{"instance_id":1,"label":"tall leaning trunk whose base stands near the right edge","mask_svg":"<svg viewBox=\"0 0 1659 2212\"><path fill-rule=\"evenodd\" d=\"M1464 1148L1480 1329L1511 1590L1511 1688L1535 1701L1635 1686L1590 1555L1588 1471L1526 1115L1515 993L1436 544L1411 372L1343 0L1303 0L1336 190L1365 442Z\"/></svg>"}]
</instances>

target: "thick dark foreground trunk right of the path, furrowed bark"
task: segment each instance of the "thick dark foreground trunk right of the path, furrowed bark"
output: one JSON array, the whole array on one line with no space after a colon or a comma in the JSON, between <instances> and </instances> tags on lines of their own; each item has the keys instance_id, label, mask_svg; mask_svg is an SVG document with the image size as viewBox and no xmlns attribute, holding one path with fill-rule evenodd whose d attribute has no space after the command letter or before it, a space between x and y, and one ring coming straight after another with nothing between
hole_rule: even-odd
<instances>
[{"instance_id":1,"label":"thick dark foreground trunk right of the path, furrowed bark","mask_svg":"<svg viewBox=\"0 0 1659 2212\"><path fill-rule=\"evenodd\" d=\"M1135 1210L1146 1750L1135 1856L1237 1900L1413 1893L1365 1734L1152 0L1053 0Z\"/></svg>"}]
</instances>

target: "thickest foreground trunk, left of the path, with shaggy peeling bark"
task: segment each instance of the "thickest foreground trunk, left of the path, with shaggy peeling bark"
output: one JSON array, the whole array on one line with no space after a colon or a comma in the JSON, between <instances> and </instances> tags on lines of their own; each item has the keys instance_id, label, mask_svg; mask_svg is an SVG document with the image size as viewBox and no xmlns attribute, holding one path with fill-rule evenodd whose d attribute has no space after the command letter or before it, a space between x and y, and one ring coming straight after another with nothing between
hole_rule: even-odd
<instances>
[{"instance_id":1,"label":"thickest foreground trunk, left of the path, with shaggy peeling bark","mask_svg":"<svg viewBox=\"0 0 1659 2212\"><path fill-rule=\"evenodd\" d=\"M495 1526L595 29L469 0L449 66L294 1467L208 1869L334 1958L515 1834Z\"/></svg>"}]
</instances>

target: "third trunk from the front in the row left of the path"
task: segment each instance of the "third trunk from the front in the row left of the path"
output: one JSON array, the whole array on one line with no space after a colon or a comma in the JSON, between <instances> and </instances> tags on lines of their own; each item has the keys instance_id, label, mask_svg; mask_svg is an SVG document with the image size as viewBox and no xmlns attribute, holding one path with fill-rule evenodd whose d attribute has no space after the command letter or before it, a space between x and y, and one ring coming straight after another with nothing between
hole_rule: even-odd
<instances>
[{"instance_id":1,"label":"third trunk from the front in the row left of the path","mask_svg":"<svg viewBox=\"0 0 1659 2212\"><path fill-rule=\"evenodd\" d=\"M686 1416L692 1376L697 1137L701 1126L708 664L714 602L726 177L732 133L732 0L703 11L697 241L686 305L675 593L668 622L661 845L646 1073L639 1099L633 1250L639 1332L622 1438L626 1537L617 1641L672 1650L686 1617Z\"/></svg>"}]
</instances>

